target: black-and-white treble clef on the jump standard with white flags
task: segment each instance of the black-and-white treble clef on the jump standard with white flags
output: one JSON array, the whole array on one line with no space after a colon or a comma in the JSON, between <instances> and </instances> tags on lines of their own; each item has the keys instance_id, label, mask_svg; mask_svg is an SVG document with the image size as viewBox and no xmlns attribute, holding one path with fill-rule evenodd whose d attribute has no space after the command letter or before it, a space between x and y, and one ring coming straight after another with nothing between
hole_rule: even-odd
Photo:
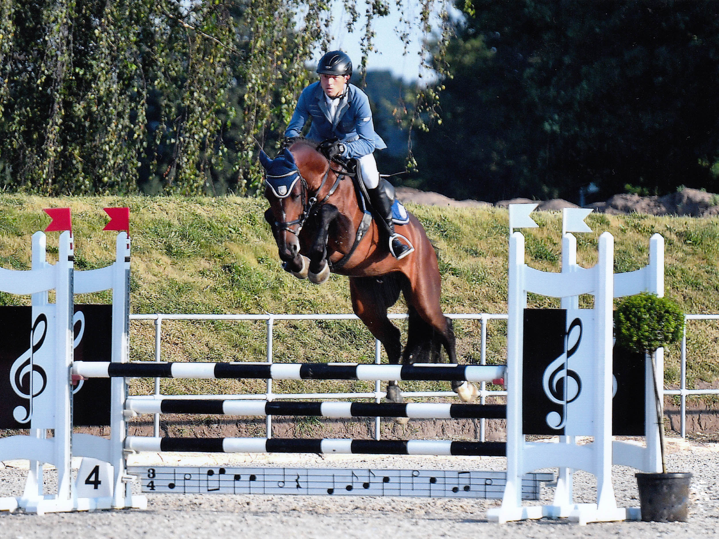
<instances>
[{"instance_id":1,"label":"black-and-white treble clef on the jump standard with white flags","mask_svg":"<svg viewBox=\"0 0 719 539\"><path fill-rule=\"evenodd\" d=\"M578 328L577 341L570 348L569 339L572 338L572 331ZM577 333L576 331L574 333ZM544 370L542 385L544 394L555 404L562 405L562 414L550 412L546 415L546 424L550 428L559 430L567 425L567 405L577 400L582 392L582 381L577 372L569 369L569 358L574 355L582 341L582 321L574 318L569 324L564 341L564 353L552 361Z\"/></svg>"}]
</instances>

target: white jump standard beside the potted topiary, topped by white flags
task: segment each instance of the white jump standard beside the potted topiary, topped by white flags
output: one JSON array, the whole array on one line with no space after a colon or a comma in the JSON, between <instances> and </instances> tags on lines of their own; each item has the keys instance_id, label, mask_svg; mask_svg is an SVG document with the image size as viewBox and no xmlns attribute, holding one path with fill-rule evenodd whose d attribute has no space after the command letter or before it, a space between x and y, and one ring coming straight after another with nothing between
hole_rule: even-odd
<instances>
[{"instance_id":1,"label":"white jump standard beside the potted topiary, topped by white flags","mask_svg":"<svg viewBox=\"0 0 719 539\"><path fill-rule=\"evenodd\" d=\"M534 206L534 205L527 205ZM580 210L577 210L580 211ZM586 210L581 210L586 212ZM565 210L565 219L567 213ZM510 206L510 221L511 221ZM523 225L526 226L526 225ZM512 229L510 222L510 230ZM567 229L564 229L565 231ZM574 231L576 229L572 229ZM585 231L588 227L585 226ZM612 484L612 464L623 464L641 471L661 471L656 420L651 421L651 372L644 368L644 428L646 447L613 441L613 298L636 294L643 290L664 292L664 244L659 234L651 239L650 264L628 274L613 274L613 237L608 232L599 238L599 259L595 267L585 269L577 264L576 241L572 234L563 234L562 272L534 270L524 261L524 236L510 235L508 338L507 338L507 487L502 506L491 509L487 517L494 522L569 517L573 522L605 522L637 520L638 507L617 507ZM563 343L552 352L544 374L523 376L528 367L528 354L537 355L536 343L526 339L527 294L562 298L566 317ZM578 297L594 297L593 309L579 309ZM549 310L545 310L549 313ZM529 317L529 318L528 318ZM545 315L546 318L546 315ZM540 326L544 321L540 321ZM540 338L548 333L537 330ZM546 349L546 346L539 347ZM540 352L542 350L539 350ZM557 354L554 356L553 354ZM660 354L661 356L661 354ZM662 369L657 369L663 372ZM561 384L557 382L561 380ZM536 392L539 383L540 392ZM661 381L659 382L661 384ZM561 387L561 391L557 390ZM525 393L534 390L551 403L550 412L541 421L544 425L528 425L526 415L539 402L528 402ZM524 403L524 405L523 405ZM632 410L636 415L636 410ZM655 416L656 417L656 416ZM539 429L541 427L541 429ZM539 432L538 430L541 430ZM528 442L526 433L547 431L559 435L559 443ZM575 436L591 436L592 443L577 445ZM560 474L554 503L546 506L523 506L521 478L528 471L559 468ZM597 477L597 502L577 504L572 499L572 472L581 469Z\"/></svg>"}]
</instances>

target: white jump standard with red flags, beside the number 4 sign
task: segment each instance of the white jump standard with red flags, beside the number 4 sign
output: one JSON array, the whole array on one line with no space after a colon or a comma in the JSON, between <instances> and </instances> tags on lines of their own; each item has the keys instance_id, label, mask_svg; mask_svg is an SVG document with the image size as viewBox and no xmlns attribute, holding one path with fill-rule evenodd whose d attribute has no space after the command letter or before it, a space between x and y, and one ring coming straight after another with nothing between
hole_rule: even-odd
<instances>
[{"instance_id":1,"label":"white jump standard with red flags, beside the number 4 sign","mask_svg":"<svg viewBox=\"0 0 719 539\"><path fill-rule=\"evenodd\" d=\"M27 426L30 436L9 436L0 439L0 460L29 459L30 469L21 497L0 499L0 509L20 508L26 512L67 512L73 510L121 509L146 507L147 500L133 496L129 476L125 473L122 445L124 438L124 382L112 382L110 410L111 440L99 436L73 433L73 386L70 367L73 363L73 296L112 290L111 359L127 361L129 315L129 237L116 239L116 262L98 270L78 272L73 269L73 236L60 234L57 264L45 257L46 237L42 232L32 236L32 270L0 269L0 290L11 294L32 294L32 321L35 327L45 324L40 342L34 341L32 353L21 366L29 379ZM55 303L48 302L48 293L55 290ZM22 361L20 357L18 361ZM17 362L17 361L16 361ZM33 387L33 384L37 385ZM116 397L116 398L115 398ZM17 418L20 415L17 414ZM53 430L47 438L47 430ZM86 476L73 482L70 464L73 456L83 457L83 464L95 466L106 473L101 489L84 483ZM53 464L58 471L55 492L46 493L42 464ZM97 463L97 464L95 464ZM79 472L83 474L83 468Z\"/></svg>"}]
</instances>

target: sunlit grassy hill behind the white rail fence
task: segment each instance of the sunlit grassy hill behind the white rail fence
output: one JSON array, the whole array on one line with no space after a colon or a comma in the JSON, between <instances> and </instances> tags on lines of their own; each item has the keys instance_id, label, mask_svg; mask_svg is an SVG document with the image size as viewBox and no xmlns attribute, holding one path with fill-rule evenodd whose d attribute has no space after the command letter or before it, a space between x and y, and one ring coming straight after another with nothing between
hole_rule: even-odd
<instances>
[{"instance_id":1,"label":"sunlit grassy hill behind the white rail fence","mask_svg":"<svg viewBox=\"0 0 719 539\"><path fill-rule=\"evenodd\" d=\"M316 286L285 273L262 213L264 200L248 198L41 198L0 196L0 266L28 269L30 237L45 229L47 207L73 210L78 270L113 261L114 233L104 232L106 206L131 208L133 313L351 313L344 277ZM434 241L443 276L443 305L448 313L505 313L508 215L505 210L409 206ZM527 229L527 261L541 270L559 271L561 214L535 213L539 229ZM719 219L643 215L587 218L591 234L577 234L577 260L596 262L597 238L615 237L615 271L644 266L649 237L666 240L667 295L687 313L719 313ZM48 234L50 259L57 253L56 233ZM106 303L107 294L76 298L76 303ZM29 298L0 295L0 305L28 304ZM530 306L557 306L558 300L532 297ZM585 303L586 304L586 303ZM393 309L404 312L398 303ZM398 323L402 326L401 323ZM478 361L478 322L457 322L462 361ZM489 326L490 361L503 363L505 325ZM689 331L690 387L706 387L719 378L719 324L693 322ZM152 359L152 323L132 324L132 356ZM262 361L264 322L165 322L163 359L168 361ZM277 361L371 361L370 334L355 321L278 321ZM666 380L679 376L677 349L667 353ZM168 380L163 391L195 390L196 382ZM216 383L216 382L214 382ZM334 382L313 387L329 389ZM366 382L347 382L369 390ZM234 392L255 382L220 382ZM137 390L143 390L137 385ZM264 387L264 382L262 382ZM417 383L414 387L428 387ZM298 389L296 382L275 382L275 391Z\"/></svg>"}]
</instances>

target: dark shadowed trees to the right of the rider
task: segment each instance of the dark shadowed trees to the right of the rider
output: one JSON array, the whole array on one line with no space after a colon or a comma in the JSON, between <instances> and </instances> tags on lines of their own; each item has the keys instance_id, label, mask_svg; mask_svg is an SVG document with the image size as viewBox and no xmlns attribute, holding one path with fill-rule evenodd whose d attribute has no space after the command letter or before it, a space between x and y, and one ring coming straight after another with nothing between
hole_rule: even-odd
<instances>
[{"instance_id":1,"label":"dark shadowed trees to the right of the rider","mask_svg":"<svg viewBox=\"0 0 719 539\"><path fill-rule=\"evenodd\" d=\"M465 7L465 0L455 4ZM413 186L453 198L719 190L719 4L476 0ZM467 11L469 11L467 9ZM437 156L442 156L438 159Z\"/></svg>"}]
</instances>

